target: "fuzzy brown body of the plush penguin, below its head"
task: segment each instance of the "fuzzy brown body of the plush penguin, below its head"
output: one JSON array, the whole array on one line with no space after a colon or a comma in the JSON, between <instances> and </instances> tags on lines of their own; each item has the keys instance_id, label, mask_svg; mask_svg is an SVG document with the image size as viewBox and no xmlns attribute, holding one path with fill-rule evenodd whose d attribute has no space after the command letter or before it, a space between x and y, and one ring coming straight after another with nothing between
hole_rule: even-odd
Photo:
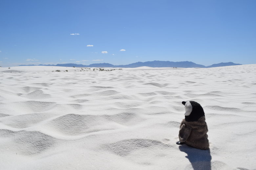
<instances>
[{"instance_id":1,"label":"fuzzy brown body of the plush penguin, below its head","mask_svg":"<svg viewBox=\"0 0 256 170\"><path fill-rule=\"evenodd\" d=\"M189 146L206 150L209 149L207 132L208 128L204 116L193 122L187 122L183 119L179 131L179 139L180 142L184 142Z\"/></svg>"}]
</instances>

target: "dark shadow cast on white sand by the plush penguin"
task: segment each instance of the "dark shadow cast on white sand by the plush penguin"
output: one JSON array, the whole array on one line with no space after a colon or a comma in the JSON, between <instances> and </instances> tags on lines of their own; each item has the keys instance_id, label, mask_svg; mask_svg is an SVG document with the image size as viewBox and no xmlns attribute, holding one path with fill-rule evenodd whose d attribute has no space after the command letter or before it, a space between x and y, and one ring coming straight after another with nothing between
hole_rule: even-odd
<instances>
[{"instance_id":1,"label":"dark shadow cast on white sand by the plush penguin","mask_svg":"<svg viewBox=\"0 0 256 170\"><path fill-rule=\"evenodd\" d=\"M179 149L187 154L186 158L190 161L194 170L211 170L210 149L196 149L186 144L180 145Z\"/></svg>"}]
</instances>

